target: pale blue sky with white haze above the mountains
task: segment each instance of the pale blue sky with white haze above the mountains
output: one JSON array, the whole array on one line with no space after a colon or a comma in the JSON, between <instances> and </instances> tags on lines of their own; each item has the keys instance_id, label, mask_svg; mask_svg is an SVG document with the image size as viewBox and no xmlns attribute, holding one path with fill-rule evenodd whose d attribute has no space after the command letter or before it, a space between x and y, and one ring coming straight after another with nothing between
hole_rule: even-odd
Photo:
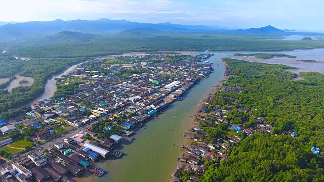
<instances>
[{"instance_id":1,"label":"pale blue sky with white haze above the mountains","mask_svg":"<svg viewBox=\"0 0 324 182\"><path fill-rule=\"evenodd\" d=\"M0 21L114 20L324 31L322 0L10 0Z\"/></svg>"}]
</instances>

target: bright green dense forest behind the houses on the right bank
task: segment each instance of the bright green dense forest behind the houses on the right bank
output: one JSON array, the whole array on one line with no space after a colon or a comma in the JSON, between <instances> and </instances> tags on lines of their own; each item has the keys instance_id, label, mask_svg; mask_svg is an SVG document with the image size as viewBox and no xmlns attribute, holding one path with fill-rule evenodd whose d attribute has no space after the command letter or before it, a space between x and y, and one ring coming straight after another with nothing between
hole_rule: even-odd
<instances>
[{"instance_id":1,"label":"bright green dense forest behind the houses on the right bank","mask_svg":"<svg viewBox=\"0 0 324 182\"><path fill-rule=\"evenodd\" d=\"M217 92L240 106L257 109L274 126L271 134L254 133L228 151L228 161L210 166L201 182L212 181L323 181L324 160L312 146L324 146L324 75L302 72L303 80L288 70L293 67L223 59L232 69L227 85L244 86L240 93ZM244 117L244 116L242 116ZM297 137L282 134L291 130Z\"/></svg>"}]
</instances>

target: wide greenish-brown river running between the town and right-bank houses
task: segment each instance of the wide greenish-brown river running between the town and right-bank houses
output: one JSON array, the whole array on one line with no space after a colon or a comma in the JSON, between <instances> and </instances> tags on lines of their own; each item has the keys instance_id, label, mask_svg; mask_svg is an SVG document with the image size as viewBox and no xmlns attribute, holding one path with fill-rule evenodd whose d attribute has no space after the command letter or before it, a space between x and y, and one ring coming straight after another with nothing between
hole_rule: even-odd
<instances>
[{"instance_id":1,"label":"wide greenish-brown river running between the town and right-bank houses","mask_svg":"<svg viewBox=\"0 0 324 182\"><path fill-rule=\"evenodd\" d=\"M209 59L214 63L214 72L210 79L205 78L192 87L183 101L171 104L159 118L147 122L146 129L136 131L136 140L124 146L126 154L121 159L106 160L96 163L109 173L103 177L90 176L79 178L78 181L167 181L174 171L177 158L180 157L178 147L183 145L185 138L182 134L189 129L190 116L195 114L195 104L206 96L223 77L225 66L221 58L226 53L215 53ZM173 129L173 131L172 131ZM174 146L175 144L175 146Z\"/></svg>"}]
</instances>

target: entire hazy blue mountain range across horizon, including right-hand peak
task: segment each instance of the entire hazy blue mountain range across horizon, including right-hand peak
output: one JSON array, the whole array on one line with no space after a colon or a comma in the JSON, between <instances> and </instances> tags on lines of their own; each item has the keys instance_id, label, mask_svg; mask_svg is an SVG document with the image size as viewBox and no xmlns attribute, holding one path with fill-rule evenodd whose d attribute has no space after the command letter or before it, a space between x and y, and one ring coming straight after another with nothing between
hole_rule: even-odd
<instances>
[{"instance_id":1,"label":"entire hazy blue mountain range across horizon, including right-hand peak","mask_svg":"<svg viewBox=\"0 0 324 182\"><path fill-rule=\"evenodd\" d=\"M1 25L1 24L0 24ZM56 35L58 32L63 32ZM0 26L0 39L26 39L26 38L44 38L60 39L59 37L70 37L67 32L81 32L100 34L104 32L120 32L121 34L130 35L149 35L154 33L223 33L223 34L289 34L284 30L277 29L273 26L261 28L229 30L221 29L216 25L211 27L204 25L180 25L166 23L139 23L127 20L54 20L54 21L33 21L24 23L9 23ZM74 39L84 37L86 39L95 38L89 34L73 33Z\"/></svg>"}]
</instances>

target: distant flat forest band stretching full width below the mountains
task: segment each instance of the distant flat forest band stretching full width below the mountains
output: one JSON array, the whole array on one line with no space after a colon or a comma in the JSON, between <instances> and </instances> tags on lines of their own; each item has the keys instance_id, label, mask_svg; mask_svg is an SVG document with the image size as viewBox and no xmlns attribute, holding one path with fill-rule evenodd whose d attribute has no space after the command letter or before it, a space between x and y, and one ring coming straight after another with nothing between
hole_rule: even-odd
<instances>
[{"instance_id":1,"label":"distant flat forest band stretching full width below the mountains","mask_svg":"<svg viewBox=\"0 0 324 182\"><path fill-rule=\"evenodd\" d=\"M271 40L269 36L166 34L166 36L105 35L89 41L26 40L2 42L6 55L31 58L98 57L125 52L161 51L286 51L324 48L324 40ZM282 37L281 37L282 38ZM270 40L269 40L270 39ZM77 49L76 49L77 48Z\"/></svg>"}]
</instances>

